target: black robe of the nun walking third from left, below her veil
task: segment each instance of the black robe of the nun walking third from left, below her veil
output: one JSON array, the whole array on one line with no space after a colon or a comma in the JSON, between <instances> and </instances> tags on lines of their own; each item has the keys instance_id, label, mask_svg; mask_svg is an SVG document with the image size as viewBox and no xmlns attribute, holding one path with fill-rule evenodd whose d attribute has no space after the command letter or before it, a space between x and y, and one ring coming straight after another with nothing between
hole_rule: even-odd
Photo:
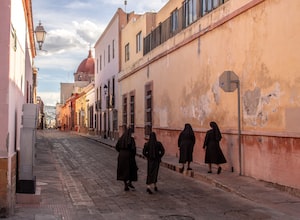
<instances>
[{"instance_id":1,"label":"black robe of the nun walking third from left, below her veil","mask_svg":"<svg viewBox=\"0 0 300 220\"><path fill-rule=\"evenodd\" d=\"M192 162L195 145L195 135L182 131L178 138L179 163Z\"/></svg>"}]
</instances>

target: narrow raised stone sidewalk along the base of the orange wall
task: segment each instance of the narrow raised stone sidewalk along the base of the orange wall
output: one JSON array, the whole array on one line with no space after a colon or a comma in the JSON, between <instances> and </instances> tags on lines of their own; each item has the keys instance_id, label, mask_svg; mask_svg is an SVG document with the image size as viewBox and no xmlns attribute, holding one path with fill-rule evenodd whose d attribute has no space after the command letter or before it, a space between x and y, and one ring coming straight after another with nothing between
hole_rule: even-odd
<instances>
[{"instance_id":1,"label":"narrow raised stone sidewalk along the base of the orange wall","mask_svg":"<svg viewBox=\"0 0 300 220\"><path fill-rule=\"evenodd\" d=\"M114 147L116 144L116 141L100 138L99 136L76 134L93 139L110 147ZM137 156L144 158L142 149L137 149ZM179 172L178 158L176 157L165 155L162 158L161 166ZM286 189L276 187L275 184L259 181L251 177L240 176L237 173L226 170L222 171L220 175L217 175L216 169L213 170L212 174L208 174L207 166L197 163L192 163L192 168L192 171L184 171L182 175L214 185L245 199L271 205L276 209L295 213L300 210L299 191L288 192Z\"/></svg>"}]
</instances>

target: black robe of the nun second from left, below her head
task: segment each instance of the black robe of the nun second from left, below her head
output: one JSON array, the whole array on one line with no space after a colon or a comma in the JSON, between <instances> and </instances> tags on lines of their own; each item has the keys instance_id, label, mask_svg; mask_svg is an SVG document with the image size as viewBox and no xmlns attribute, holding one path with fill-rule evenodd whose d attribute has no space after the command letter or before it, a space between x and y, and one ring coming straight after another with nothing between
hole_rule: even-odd
<instances>
[{"instance_id":1,"label":"black robe of the nun second from left, below her head","mask_svg":"<svg viewBox=\"0 0 300 220\"><path fill-rule=\"evenodd\" d=\"M143 149L143 155L147 158L147 180L146 184L152 184L157 182L159 165L161 158L165 154L165 149L161 142L157 141L154 148L154 155L150 155L150 144L149 142L145 143Z\"/></svg>"}]
</instances>

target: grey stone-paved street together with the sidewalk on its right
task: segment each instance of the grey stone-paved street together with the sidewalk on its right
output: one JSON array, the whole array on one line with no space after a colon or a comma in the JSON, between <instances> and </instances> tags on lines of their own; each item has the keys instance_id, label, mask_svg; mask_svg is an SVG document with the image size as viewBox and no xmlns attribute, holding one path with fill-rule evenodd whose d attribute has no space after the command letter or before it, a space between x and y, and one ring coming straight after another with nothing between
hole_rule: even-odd
<instances>
[{"instance_id":1,"label":"grey stone-paved street together with the sidewalk on its right","mask_svg":"<svg viewBox=\"0 0 300 220\"><path fill-rule=\"evenodd\" d=\"M124 193L122 184L114 184L116 151L113 147L116 142L98 136L68 133L38 135L35 174L37 188L42 189L41 202L17 204L16 215L9 219L300 218L300 198L295 195L228 171L217 175L214 170L213 174L208 174L207 167L197 163L192 164L192 172L180 174L178 158L168 155L163 157L161 164L167 169L161 170L159 188L164 188L160 188L158 194L147 196L145 190L141 190L145 189L144 181L136 183L135 193ZM47 137L52 137L49 142ZM101 144L93 144L94 141ZM88 148L87 144L90 145ZM103 144L107 147L99 148ZM140 177L145 179L146 163L141 149L137 155ZM168 185L170 182L172 185ZM208 184L215 187L208 187ZM172 211L174 206L177 209Z\"/></svg>"}]
</instances>

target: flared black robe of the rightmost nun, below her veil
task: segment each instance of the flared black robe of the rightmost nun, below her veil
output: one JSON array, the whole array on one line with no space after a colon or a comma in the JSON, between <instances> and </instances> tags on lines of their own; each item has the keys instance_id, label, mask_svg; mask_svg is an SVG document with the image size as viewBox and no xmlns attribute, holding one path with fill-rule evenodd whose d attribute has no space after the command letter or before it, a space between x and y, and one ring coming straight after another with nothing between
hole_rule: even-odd
<instances>
[{"instance_id":1,"label":"flared black robe of the rightmost nun, below her veil","mask_svg":"<svg viewBox=\"0 0 300 220\"><path fill-rule=\"evenodd\" d=\"M203 148L206 149L205 163L222 164L227 162L220 148L219 140L216 140L212 129L206 132Z\"/></svg>"}]
</instances>

